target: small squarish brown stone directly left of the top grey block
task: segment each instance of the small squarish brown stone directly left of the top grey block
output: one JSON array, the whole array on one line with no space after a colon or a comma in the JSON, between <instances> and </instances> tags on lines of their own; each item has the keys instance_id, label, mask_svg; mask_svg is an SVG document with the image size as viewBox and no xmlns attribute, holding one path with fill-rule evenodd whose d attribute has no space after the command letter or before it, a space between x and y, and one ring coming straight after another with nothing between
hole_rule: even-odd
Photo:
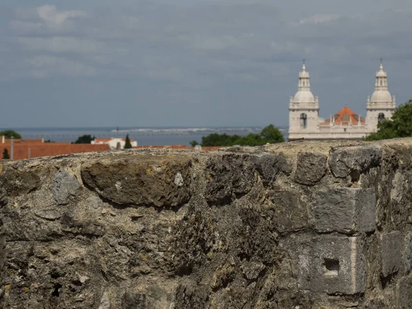
<instances>
[{"instance_id":1,"label":"small squarish brown stone directly left of the top grey block","mask_svg":"<svg viewBox=\"0 0 412 309\"><path fill-rule=\"evenodd\" d=\"M325 176L327 165L325 155L321 153L299 152L295 181L302 185L314 185Z\"/></svg>"}]
</instances>

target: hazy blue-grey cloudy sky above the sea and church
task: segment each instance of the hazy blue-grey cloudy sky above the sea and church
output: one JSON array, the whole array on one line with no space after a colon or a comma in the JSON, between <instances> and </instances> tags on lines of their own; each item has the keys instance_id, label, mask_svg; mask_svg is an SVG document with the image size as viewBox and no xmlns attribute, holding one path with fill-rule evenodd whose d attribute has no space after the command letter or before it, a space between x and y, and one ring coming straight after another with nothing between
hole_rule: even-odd
<instances>
[{"instance_id":1,"label":"hazy blue-grey cloudy sky above the sea and church","mask_svg":"<svg viewBox=\"0 0 412 309\"><path fill-rule=\"evenodd\" d=\"M412 99L411 34L410 0L1 0L0 126L287 126L303 58L365 116L381 57Z\"/></svg>"}]
</instances>

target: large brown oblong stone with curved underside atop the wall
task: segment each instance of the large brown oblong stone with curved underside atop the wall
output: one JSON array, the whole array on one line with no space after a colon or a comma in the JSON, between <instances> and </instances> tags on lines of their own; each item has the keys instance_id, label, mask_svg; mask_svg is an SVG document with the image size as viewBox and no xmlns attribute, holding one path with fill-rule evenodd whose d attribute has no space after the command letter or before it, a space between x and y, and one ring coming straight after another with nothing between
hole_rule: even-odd
<instances>
[{"instance_id":1,"label":"large brown oblong stone with curved underside atop the wall","mask_svg":"<svg viewBox=\"0 0 412 309\"><path fill-rule=\"evenodd\" d=\"M190 166L185 155L140 155L82 166L83 182L118 205L177 206L190 198Z\"/></svg>"}]
</instances>

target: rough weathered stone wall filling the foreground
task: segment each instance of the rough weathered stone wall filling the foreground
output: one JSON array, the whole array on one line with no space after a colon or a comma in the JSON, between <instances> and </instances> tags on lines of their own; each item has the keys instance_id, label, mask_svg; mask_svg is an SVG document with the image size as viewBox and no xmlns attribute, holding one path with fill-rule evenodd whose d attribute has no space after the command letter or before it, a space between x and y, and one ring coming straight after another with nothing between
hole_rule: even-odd
<instances>
[{"instance_id":1,"label":"rough weathered stone wall filling the foreground","mask_svg":"<svg viewBox=\"0 0 412 309\"><path fill-rule=\"evenodd\" d=\"M1 164L6 308L412 308L412 139Z\"/></svg>"}]
</instances>

